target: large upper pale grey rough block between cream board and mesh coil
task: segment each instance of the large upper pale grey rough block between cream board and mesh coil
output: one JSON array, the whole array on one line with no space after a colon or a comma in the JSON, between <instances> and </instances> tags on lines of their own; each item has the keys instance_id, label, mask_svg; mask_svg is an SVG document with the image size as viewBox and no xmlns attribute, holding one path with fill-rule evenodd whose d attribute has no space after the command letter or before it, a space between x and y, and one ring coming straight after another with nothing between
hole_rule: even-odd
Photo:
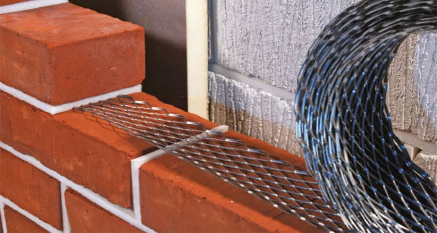
<instances>
[{"instance_id":1,"label":"large upper pale grey rough block between cream board and mesh coil","mask_svg":"<svg viewBox=\"0 0 437 233\"><path fill-rule=\"evenodd\" d=\"M358 0L215 1L215 62L294 92L314 39Z\"/></svg>"}]
</instances>

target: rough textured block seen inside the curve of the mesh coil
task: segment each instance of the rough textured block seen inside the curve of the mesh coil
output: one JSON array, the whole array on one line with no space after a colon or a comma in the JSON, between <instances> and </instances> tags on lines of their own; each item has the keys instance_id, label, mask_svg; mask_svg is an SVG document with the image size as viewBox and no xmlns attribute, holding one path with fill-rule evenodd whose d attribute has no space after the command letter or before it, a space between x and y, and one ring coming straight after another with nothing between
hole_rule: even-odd
<instances>
[{"instance_id":1,"label":"rough textured block seen inside the curve of the mesh coil","mask_svg":"<svg viewBox=\"0 0 437 233\"><path fill-rule=\"evenodd\" d=\"M391 63L387 106L394 129L437 144L436 48L436 33L404 41Z\"/></svg>"}]
</instances>

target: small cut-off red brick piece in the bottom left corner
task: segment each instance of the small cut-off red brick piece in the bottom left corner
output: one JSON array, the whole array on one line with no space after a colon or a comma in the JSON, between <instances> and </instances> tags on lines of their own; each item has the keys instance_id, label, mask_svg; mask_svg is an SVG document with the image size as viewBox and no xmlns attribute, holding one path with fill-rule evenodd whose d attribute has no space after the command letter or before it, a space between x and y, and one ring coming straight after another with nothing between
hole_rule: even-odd
<instances>
[{"instance_id":1,"label":"small cut-off red brick piece in the bottom left corner","mask_svg":"<svg viewBox=\"0 0 437 233\"><path fill-rule=\"evenodd\" d=\"M40 227L34 221L18 213L9 206L4 207L4 216L6 219L6 229L8 233L47 233L44 228Z\"/></svg>"}]
</instances>

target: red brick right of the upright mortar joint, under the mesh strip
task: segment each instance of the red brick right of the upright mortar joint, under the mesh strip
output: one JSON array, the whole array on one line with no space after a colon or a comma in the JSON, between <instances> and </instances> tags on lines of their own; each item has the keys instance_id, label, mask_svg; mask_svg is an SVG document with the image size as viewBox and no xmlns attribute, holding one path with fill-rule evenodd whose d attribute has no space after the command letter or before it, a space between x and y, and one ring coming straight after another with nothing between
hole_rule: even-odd
<instances>
[{"instance_id":1,"label":"red brick right of the upright mortar joint, under the mesh strip","mask_svg":"<svg viewBox=\"0 0 437 233\"><path fill-rule=\"evenodd\" d=\"M143 224L158 232L317 232L172 155L140 170Z\"/></svg>"}]
</instances>

